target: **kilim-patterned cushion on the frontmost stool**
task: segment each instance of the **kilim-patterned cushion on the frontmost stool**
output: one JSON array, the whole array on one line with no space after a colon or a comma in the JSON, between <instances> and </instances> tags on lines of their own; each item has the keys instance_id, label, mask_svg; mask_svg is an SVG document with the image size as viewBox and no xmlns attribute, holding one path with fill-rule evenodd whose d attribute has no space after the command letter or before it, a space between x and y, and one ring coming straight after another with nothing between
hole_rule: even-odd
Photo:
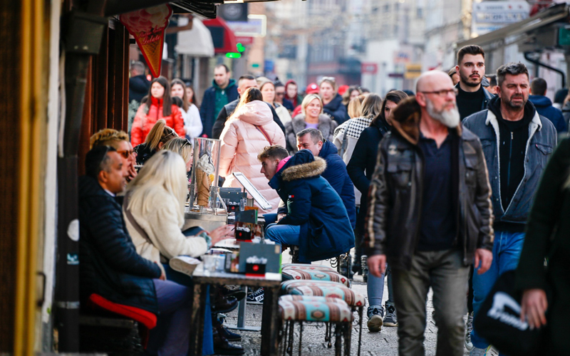
<instances>
[{"instance_id":1,"label":"kilim-patterned cushion on the frontmost stool","mask_svg":"<svg viewBox=\"0 0 570 356\"><path fill-rule=\"evenodd\" d=\"M352 323L354 316L351 308L342 300L331 299L312 297L310 300L303 298L291 300L291 298L281 297L279 298L279 313L283 320Z\"/></svg>"}]
</instances>

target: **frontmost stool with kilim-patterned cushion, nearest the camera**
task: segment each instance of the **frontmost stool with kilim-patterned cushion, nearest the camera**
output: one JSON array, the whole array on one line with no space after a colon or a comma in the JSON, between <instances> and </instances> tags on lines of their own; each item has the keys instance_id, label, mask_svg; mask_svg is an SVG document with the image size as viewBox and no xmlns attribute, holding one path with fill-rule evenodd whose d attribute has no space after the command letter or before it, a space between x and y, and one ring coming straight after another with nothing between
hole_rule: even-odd
<instances>
[{"instance_id":1,"label":"frontmost stool with kilim-patterned cushion, nearest the camera","mask_svg":"<svg viewBox=\"0 0 570 356\"><path fill-rule=\"evenodd\" d=\"M354 316L352 309L340 298L283 295L279 298L279 314L285 322L281 339L283 355L286 355L286 353L292 355L294 325L299 323L299 356L301 356L304 322L323 322L326 325L335 325L335 355L341 355L343 337L344 355L348 356L351 354L351 333Z\"/></svg>"}]
</instances>

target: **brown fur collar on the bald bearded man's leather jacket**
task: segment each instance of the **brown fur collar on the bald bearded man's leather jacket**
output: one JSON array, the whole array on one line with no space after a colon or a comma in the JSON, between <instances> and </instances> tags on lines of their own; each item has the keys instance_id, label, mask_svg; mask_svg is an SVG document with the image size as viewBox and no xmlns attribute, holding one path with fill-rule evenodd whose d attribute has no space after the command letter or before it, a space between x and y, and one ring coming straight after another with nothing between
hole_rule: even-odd
<instances>
[{"instance_id":1,"label":"brown fur collar on the bald bearded man's leather jacket","mask_svg":"<svg viewBox=\"0 0 570 356\"><path fill-rule=\"evenodd\" d=\"M398 106L390 114L392 127L395 132L408 140L413 145L418 145L420 141L420 120L422 119L422 110L415 96L405 98L400 101ZM461 123L450 131L457 132L458 136L462 135Z\"/></svg>"}]
</instances>

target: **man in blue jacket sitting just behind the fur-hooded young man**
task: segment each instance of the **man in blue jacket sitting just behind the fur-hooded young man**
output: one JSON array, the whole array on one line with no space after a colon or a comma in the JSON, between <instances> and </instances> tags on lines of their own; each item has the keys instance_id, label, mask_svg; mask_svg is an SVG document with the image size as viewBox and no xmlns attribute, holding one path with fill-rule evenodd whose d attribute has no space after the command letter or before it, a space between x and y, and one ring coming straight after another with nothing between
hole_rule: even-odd
<instances>
[{"instance_id":1,"label":"man in blue jacket sitting just behind the fur-hooded young man","mask_svg":"<svg viewBox=\"0 0 570 356\"><path fill-rule=\"evenodd\" d=\"M354 185L351 177L348 177L346 164L338 155L336 146L330 141L323 139L323 134L317 129L305 129L297 132L297 149L309 150L315 157L321 157L326 161L326 169L321 176L343 199L344 207L351 219L351 226L356 226L356 202L354 198Z\"/></svg>"}]
</instances>

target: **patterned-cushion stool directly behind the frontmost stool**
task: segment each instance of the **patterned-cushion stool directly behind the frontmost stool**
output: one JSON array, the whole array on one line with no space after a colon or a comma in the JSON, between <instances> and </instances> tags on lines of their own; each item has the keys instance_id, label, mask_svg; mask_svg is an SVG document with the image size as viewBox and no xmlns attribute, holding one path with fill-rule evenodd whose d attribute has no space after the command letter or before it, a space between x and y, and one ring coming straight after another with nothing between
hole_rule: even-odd
<instances>
[{"instance_id":1,"label":"patterned-cushion stool directly behind the frontmost stool","mask_svg":"<svg viewBox=\"0 0 570 356\"><path fill-rule=\"evenodd\" d=\"M361 293L346 288L341 283L330 281L285 281L281 283L281 293L290 295L318 296L340 298L353 310L358 310L358 355L361 354L363 309L366 299Z\"/></svg>"}]
</instances>

